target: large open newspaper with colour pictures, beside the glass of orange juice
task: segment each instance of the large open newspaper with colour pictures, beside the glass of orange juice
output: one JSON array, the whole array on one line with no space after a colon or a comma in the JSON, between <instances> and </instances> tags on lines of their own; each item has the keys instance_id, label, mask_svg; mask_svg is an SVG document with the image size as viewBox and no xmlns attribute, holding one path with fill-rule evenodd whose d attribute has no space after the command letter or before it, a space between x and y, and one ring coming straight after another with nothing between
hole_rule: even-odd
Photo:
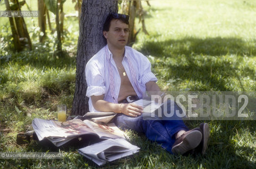
<instances>
[{"instance_id":1,"label":"large open newspaper with colour pictures, beside the glass of orange juice","mask_svg":"<svg viewBox=\"0 0 256 169\"><path fill-rule=\"evenodd\" d=\"M112 124L97 124L90 120L73 119L67 121L44 120L35 118L32 121L38 139L47 138L59 147L80 135L96 135L99 138L124 138L129 137L118 127Z\"/></svg>"}]
</instances>

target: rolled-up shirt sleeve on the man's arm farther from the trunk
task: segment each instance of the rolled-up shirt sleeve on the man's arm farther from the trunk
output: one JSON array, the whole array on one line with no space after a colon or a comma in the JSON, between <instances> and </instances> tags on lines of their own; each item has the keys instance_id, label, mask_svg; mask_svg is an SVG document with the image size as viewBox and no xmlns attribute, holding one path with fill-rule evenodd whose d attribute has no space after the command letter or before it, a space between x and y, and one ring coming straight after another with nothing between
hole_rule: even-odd
<instances>
[{"instance_id":1,"label":"rolled-up shirt sleeve on the man's arm farther from the trunk","mask_svg":"<svg viewBox=\"0 0 256 169\"><path fill-rule=\"evenodd\" d=\"M155 74L151 72L151 63L149 62L148 58L144 55L142 56L142 69L140 70L141 74L141 82L146 84L149 81L157 81L157 77Z\"/></svg>"}]
</instances>

